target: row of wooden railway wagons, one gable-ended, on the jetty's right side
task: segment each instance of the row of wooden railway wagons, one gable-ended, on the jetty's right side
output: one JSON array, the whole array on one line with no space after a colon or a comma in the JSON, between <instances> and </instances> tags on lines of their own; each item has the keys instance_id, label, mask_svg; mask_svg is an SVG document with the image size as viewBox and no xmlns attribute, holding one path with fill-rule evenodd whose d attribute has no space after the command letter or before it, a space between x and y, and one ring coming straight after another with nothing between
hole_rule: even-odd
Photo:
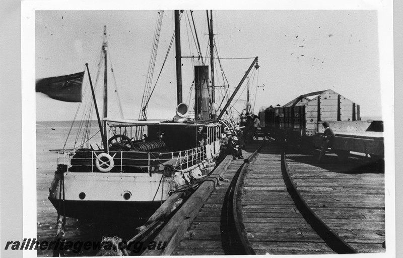
<instances>
[{"instance_id":1,"label":"row of wooden railway wagons, one gable-ended, on the jetty's right side","mask_svg":"<svg viewBox=\"0 0 403 258\"><path fill-rule=\"evenodd\" d=\"M308 97L313 97L312 99ZM351 152L383 159L383 122L362 121L360 105L328 89L300 95L282 107L259 112L265 134L298 145L321 147L323 122L335 133L331 150L342 159Z\"/></svg>"}]
</instances>

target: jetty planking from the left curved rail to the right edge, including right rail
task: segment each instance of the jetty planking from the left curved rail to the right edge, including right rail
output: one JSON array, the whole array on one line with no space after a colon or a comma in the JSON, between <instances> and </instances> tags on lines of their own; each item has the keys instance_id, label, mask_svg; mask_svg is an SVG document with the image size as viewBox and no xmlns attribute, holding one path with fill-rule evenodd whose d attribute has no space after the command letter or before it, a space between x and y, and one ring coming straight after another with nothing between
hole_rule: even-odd
<instances>
[{"instance_id":1,"label":"jetty planking from the left curved rail to the right edge, including right rail","mask_svg":"<svg viewBox=\"0 0 403 258\"><path fill-rule=\"evenodd\" d=\"M257 254L385 251L379 168L335 156L317 164L281 149L263 148L244 185L243 222Z\"/></svg>"}]
</instances>

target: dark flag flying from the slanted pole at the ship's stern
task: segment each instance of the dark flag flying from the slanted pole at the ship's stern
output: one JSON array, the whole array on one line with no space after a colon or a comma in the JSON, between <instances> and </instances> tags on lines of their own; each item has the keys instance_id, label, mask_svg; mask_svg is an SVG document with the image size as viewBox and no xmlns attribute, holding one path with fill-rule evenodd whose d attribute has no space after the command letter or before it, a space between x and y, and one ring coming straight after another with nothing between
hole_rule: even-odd
<instances>
[{"instance_id":1,"label":"dark flag flying from the slanted pole at the ship's stern","mask_svg":"<svg viewBox=\"0 0 403 258\"><path fill-rule=\"evenodd\" d=\"M35 91L61 101L82 102L83 78L84 72L38 79Z\"/></svg>"}]
</instances>

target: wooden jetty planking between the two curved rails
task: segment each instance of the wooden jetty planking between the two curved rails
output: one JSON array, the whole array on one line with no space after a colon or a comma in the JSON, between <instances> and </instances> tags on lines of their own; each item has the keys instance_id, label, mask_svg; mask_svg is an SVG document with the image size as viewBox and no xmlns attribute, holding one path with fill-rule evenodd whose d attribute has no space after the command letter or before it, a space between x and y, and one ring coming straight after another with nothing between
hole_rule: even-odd
<instances>
[{"instance_id":1,"label":"wooden jetty planking between the two curved rails","mask_svg":"<svg viewBox=\"0 0 403 258\"><path fill-rule=\"evenodd\" d=\"M263 147L248 172L242 215L256 254L335 253L304 220L287 191L276 145Z\"/></svg>"}]
</instances>

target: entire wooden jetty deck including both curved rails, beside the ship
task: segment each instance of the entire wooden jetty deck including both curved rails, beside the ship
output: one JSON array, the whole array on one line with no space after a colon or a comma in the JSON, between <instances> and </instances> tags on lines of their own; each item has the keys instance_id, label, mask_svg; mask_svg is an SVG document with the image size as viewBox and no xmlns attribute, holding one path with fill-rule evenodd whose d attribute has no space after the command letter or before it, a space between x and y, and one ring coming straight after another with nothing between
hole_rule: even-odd
<instances>
[{"instance_id":1,"label":"entire wooden jetty deck including both curved rails, beside the ship","mask_svg":"<svg viewBox=\"0 0 403 258\"><path fill-rule=\"evenodd\" d=\"M222 168L205 187L210 196L189 198L153 237L167 248L143 255L384 252L383 173L282 150L271 141L247 145L248 159Z\"/></svg>"}]
</instances>

